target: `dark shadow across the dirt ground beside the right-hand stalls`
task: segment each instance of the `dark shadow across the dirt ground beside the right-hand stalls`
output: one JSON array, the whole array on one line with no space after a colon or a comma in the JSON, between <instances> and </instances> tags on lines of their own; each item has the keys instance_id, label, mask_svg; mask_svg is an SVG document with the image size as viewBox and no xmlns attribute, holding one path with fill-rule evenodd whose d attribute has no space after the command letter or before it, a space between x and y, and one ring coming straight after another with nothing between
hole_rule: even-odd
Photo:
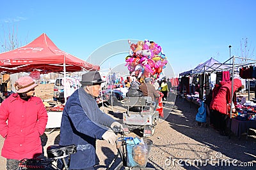
<instances>
[{"instance_id":1,"label":"dark shadow across the dirt ground beside the right-hand stalls","mask_svg":"<svg viewBox=\"0 0 256 170\"><path fill-rule=\"evenodd\" d=\"M222 153L230 159L236 159L239 162L252 162L256 159L256 136L254 131L250 131L248 139L243 134L240 139L234 134L228 136L221 136L218 131L209 126L209 117L207 117L207 125L198 126L195 121L196 113L199 106L194 103L177 97L173 108L165 106L165 112L170 112L166 121L170 126L189 138L195 139L202 145ZM170 111L172 110L172 111ZM180 112L181 111L181 112ZM166 114L164 113L164 114ZM193 150L193 147L191 148ZM207 154L207 153L205 153ZM225 169L255 169L255 162L253 167L225 167ZM222 167L223 168L223 167ZM186 167L186 169L197 169L195 167ZM204 169L221 169L221 167L207 166Z\"/></svg>"}]
</instances>

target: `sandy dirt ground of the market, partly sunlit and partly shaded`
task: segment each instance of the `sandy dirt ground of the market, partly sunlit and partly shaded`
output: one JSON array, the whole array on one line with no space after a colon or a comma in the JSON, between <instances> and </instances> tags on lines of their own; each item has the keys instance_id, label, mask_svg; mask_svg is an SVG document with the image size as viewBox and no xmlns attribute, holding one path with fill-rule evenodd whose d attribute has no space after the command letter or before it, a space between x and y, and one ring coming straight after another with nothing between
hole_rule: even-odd
<instances>
[{"instance_id":1,"label":"sandy dirt ground of the market, partly sunlit and partly shaded","mask_svg":"<svg viewBox=\"0 0 256 170\"><path fill-rule=\"evenodd\" d=\"M44 92L45 85L38 87L36 96L46 94L51 96L53 91L51 87L47 88L48 92ZM245 134L240 139L234 134L230 135L230 138L220 136L218 131L209 126L209 117L207 117L206 127L196 124L195 115L198 106L176 95L173 98L173 101L166 102L164 106L164 115L167 118L157 124L154 136L150 137L153 146L147 167L153 169L256 169L255 131L249 131L248 139ZM111 111L105 107L104 111L122 122L122 113L118 109ZM51 129L47 129L42 136L44 150L49 145L58 144L60 139L58 129L49 134L50 131ZM141 136L140 131L134 133ZM2 146L3 138L0 138L0 148ZM98 140L97 169L106 169L116 153L115 146ZM233 160L236 164L225 164L227 160ZM0 157L0 170L5 170L5 161ZM204 164L200 165L200 161ZM221 164L220 161L224 163Z\"/></svg>"}]
</instances>

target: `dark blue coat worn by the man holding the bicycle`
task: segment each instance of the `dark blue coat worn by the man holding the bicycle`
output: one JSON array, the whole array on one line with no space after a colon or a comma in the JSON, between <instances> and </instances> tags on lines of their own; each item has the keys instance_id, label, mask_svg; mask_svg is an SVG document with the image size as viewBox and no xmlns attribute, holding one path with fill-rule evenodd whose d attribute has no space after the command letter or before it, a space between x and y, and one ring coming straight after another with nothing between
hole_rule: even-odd
<instances>
[{"instance_id":1,"label":"dark blue coat worn by the man holding the bicycle","mask_svg":"<svg viewBox=\"0 0 256 170\"><path fill-rule=\"evenodd\" d=\"M91 114L91 119L88 114ZM113 122L115 120L103 113L95 99L82 87L68 98L61 119L60 145L77 146L77 153L70 157L70 169L95 165L96 139L102 139L102 135L108 130L99 124L110 127Z\"/></svg>"}]
</instances>

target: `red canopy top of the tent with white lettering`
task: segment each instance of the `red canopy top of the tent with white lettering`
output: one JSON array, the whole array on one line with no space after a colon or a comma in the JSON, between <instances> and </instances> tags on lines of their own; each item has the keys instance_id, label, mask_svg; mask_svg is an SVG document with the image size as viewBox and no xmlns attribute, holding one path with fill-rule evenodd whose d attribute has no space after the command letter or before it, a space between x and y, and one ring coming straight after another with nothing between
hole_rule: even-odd
<instances>
[{"instance_id":1,"label":"red canopy top of the tent with white lettering","mask_svg":"<svg viewBox=\"0 0 256 170\"><path fill-rule=\"evenodd\" d=\"M44 73L63 72L64 62L68 72L100 69L99 66L63 52L45 33L26 46L0 53L0 71L7 73L31 72L34 69Z\"/></svg>"}]
</instances>

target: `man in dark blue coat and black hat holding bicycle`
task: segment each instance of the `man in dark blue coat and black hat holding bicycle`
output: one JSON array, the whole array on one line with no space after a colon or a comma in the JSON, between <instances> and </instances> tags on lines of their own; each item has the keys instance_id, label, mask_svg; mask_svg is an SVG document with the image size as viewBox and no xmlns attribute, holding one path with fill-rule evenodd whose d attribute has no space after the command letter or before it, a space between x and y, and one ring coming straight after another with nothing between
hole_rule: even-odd
<instances>
[{"instance_id":1,"label":"man in dark blue coat and black hat holding bicycle","mask_svg":"<svg viewBox=\"0 0 256 170\"><path fill-rule=\"evenodd\" d=\"M104 139L115 145L113 127L122 125L102 112L94 97L99 96L103 83L99 71L88 71L82 75L81 87L67 100L60 127L60 145L77 146L70 155L70 169L95 169L96 139ZM61 167L60 162L58 164Z\"/></svg>"}]
</instances>

